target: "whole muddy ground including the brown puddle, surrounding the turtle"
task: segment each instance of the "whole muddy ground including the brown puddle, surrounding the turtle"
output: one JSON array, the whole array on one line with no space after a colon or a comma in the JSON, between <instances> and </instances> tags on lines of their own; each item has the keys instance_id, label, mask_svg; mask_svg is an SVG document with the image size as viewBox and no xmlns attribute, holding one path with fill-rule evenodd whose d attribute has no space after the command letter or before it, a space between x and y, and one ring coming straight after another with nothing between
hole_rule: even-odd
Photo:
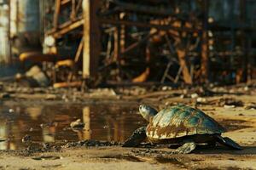
<instances>
[{"instance_id":1,"label":"whole muddy ground including the brown puddle, surrounding the turtle","mask_svg":"<svg viewBox=\"0 0 256 170\"><path fill-rule=\"evenodd\" d=\"M21 89L9 88L0 99L0 169L256 169L256 110L245 107L256 101L254 87L212 88L211 95L180 89L126 95L119 89L108 97L93 92L81 97L76 90ZM189 97L195 92L204 103ZM76 99L68 93L77 94ZM244 150L197 146L189 155L177 155L166 145L122 148L137 127L147 125L137 114L142 103L156 109L177 103L195 106L220 122L228 130L223 136ZM235 106L224 107L231 104ZM73 130L70 123L78 119L84 128Z\"/></svg>"}]
</instances>

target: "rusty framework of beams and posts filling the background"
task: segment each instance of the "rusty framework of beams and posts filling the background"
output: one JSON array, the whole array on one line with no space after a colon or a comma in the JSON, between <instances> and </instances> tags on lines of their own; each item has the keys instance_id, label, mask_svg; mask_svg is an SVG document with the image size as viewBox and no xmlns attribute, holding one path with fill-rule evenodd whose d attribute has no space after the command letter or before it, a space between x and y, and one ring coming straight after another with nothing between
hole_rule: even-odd
<instances>
[{"instance_id":1,"label":"rusty framework of beams and posts filling the background","mask_svg":"<svg viewBox=\"0 0 256 170\"><path fill-rule=\"evenodd\" d=\"M254 1L44 0L40 8L45 53L69 68L61 81L195 84L255 77Z\"/></svg>"}]
</instances>

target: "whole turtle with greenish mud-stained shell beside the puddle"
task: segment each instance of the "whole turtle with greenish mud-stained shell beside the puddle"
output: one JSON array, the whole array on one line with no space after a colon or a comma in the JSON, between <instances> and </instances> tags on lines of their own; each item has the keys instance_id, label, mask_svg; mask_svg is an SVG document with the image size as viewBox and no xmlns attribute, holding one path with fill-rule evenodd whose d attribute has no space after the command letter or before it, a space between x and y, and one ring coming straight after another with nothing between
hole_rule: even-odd
<instances>
[{"instance_id":1,"label":"whole turtle with greenish mud-stained shell beside the puddle","mask_svg":"<svg viewBox=\"0 0 256 170\"><path fill-rule=\"evenodd\" d=\"M196 144L214 146L217 142L242 150L235 141L221 136L226 130L211 116L188 105L167 106L159 112L149 105L140 105L139 112L149 122L148 126L137 128L123 147L137 147L148 139L152 144L180 144L174 150L180 154L195 150Z\"/></svg>"}]
</instances>

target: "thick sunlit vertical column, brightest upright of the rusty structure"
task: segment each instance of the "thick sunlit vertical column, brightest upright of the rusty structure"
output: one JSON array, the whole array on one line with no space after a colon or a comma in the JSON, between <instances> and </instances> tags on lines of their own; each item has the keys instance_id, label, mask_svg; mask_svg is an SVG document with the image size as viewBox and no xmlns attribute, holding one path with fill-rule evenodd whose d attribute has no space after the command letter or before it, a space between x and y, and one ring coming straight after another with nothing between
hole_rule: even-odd
<instances>
[{"instance_id":1,"label":"thick sunlit vertical column, brightest upright of the rusty structure","mask_svg":"<svg viewBox=\"0 0 256 170\"><path fill-rule=\"evenodd\" d=\"M95 77L101 52L100 27L96 16L100 0L84 0L83 77Z\"/></svg>"}]
</instances>

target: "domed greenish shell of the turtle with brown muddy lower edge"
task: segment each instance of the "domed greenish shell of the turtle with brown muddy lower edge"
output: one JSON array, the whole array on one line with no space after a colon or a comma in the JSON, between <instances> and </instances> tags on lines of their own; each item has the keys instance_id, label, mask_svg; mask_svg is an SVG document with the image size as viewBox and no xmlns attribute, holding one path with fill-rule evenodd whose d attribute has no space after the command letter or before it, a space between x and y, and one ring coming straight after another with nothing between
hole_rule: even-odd
<instances>
[{"instance_id":1,"label":"domed greenish shell of the turtle with brown muddy lower edge","mask_svg":"<svg viewBox=\"0 0 256 170\"><path fill-rule=\"evenodd\" d=\"M149 122L149 139L174 139L194 134L224 133L225 129L204 112L186 105L167 107Z\"/></svg>"}]
</instances>

